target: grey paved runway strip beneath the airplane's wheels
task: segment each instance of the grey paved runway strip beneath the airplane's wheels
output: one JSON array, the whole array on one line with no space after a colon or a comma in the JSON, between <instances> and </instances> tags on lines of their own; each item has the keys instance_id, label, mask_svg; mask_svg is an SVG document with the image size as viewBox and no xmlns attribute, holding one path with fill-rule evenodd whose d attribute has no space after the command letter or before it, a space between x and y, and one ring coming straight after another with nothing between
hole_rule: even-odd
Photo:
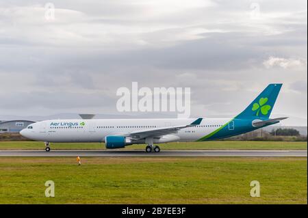
<instances>
[{"instance_id":1,"label":"grey paved runway strip beneath the airplane's wheels","mask_svg":"<svg viewBox=\"0 0 308 218\"><path fill-rule=\"evenodd\" d=\"M307 156L307 150L1 150L0 156Z\"/></svg>"}]
</instances>

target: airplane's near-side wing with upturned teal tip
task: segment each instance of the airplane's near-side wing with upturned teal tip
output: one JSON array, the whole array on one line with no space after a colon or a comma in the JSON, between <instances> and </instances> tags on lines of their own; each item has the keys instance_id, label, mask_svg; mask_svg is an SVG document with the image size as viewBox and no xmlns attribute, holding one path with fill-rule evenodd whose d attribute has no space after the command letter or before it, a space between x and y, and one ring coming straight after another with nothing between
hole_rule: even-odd
<instances>
[{"instance_id":1,"label":"airplane's near-side wing with upturned teal tip","mask_svg":"<svg viewBox=\"0 0 308 218\"><path fill-rule=\"evenodd\" d=\"M203 118L198 118L191 124L182 125L182 126L167 126L162 128L151 128L142 131L134 131L131 133L127 133L126 137L131 137L132 139L143 139L146 137L157 137L162 135L169 135L172 133L177 133L181 128L187 128L191 126L196 126L201 123Z\"/></svg>"}]
</instances>

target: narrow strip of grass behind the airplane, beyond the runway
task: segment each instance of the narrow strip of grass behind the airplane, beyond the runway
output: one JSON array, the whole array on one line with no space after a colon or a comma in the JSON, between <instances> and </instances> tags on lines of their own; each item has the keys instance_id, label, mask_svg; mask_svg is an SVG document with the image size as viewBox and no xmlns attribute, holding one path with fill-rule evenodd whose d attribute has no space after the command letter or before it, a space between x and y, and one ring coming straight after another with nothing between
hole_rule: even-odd
<instances>
[{"instance_id":1,"label":"narrow strip of grass behind the airplane, beyond the runway","mask_svg":"<svg viewBox=\"0 0 308 218\"><path fill-rule=\"evenodd\" d=\"M203 150L203 149L242 149L242 150L307 150L307 141L204 141L174 142L159 144L162 150ZM124 149L144 149L145 145L127 146ZM44 150L44 143L39 141L0 141L0 150L38 149ZM100 143L52 143L51 149L105 149Z\"/></svg>"}]
</instances>

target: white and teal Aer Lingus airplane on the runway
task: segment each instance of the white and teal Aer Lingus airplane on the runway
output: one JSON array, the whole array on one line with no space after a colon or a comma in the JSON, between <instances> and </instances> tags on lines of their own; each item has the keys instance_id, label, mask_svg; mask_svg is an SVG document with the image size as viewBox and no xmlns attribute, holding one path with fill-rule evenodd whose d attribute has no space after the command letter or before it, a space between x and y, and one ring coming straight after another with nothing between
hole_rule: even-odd
<instances>
[{"instance_id":1,"label":"white and teal Aer Lingus airplane on the runway","mask_svg":"<svg viewBox=\"0 0 308 218\"><path fill-rule=\"evenodd\" d=\"M286 118L270 119L270 113L281 86L269 84L244 111L229 119L45 120L30 124L20 133L44 141L47 152L51 150L50 142L104 142L110 149L146 144L146 152L159 152L155 144L223 139L279 123Z\"/></svg>"}]
</instances>

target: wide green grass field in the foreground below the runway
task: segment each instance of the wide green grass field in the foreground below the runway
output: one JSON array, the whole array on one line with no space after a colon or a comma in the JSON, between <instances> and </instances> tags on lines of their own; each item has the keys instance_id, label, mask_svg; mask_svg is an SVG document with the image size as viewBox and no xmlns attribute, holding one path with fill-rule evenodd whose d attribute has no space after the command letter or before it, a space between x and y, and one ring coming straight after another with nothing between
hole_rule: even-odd
<instances>
[{"instance_id":1,"label":"wide green grass field in the foreground below the runway","mask_svg":"<svg viewBox=\"0 0 308 218\"><path fill-rule=\"evenodd\" d=\"M0 204L307 204L307 158L1 158ZM44 183L55 182L55 197ZM258 180L261 197L250 196Z\"/></svg>"}]
</instances>

